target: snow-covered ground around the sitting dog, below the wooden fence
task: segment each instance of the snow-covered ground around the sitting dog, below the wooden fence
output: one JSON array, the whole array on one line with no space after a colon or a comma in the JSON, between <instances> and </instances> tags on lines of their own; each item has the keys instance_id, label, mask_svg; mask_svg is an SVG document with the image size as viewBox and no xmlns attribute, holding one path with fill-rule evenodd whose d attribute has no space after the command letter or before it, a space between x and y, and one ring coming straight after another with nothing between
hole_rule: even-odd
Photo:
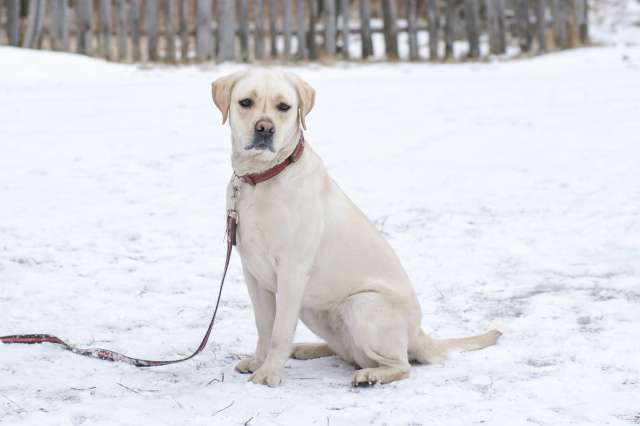
<instances>
[{"instance_id":1,"label":"snow-covered ground around the sitting dog, below the wooden fence","mask_svg":"<svg viewBox=\"0 0 640 426\"><path fill-rule=\"evenodd\" d=\"M0 49L0 335L194 349L231 172L209 84L234 69ZM382 387L351 388L336 358L249 384L233 371L255 343L235 258L191 362L0 346L0 423L640 423L640 48L295 71L318 91L308 140L398 251L424 327L496 327L499 345Z\"/></svg>"}]
</instances>

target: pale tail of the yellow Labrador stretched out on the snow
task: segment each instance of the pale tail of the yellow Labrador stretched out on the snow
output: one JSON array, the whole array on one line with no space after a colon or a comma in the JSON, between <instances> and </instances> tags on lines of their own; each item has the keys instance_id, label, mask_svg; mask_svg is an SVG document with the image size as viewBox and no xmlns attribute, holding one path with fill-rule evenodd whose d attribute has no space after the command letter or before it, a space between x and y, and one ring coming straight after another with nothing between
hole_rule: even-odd
<instances>
[{"instance_id":1,"label":"pale tail of the yellow Labrador stretched out on the snow","mask_svg":"<svg viewBox=\"0 0 640 426\"><path fill-rule=\"evenodd\" d=\"M491 330L478 336L438 340L420 330L416 345L409 355L421 364L439 363L444 361L450 352L474 351L495 345L500 336L500 331Z\"/></svg>"}]
</instances>

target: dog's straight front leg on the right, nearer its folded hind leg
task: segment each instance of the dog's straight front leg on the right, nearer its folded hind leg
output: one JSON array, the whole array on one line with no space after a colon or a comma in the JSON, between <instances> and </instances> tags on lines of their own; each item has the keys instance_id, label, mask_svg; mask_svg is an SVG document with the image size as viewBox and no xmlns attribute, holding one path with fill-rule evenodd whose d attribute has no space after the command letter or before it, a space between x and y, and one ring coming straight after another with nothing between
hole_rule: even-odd
<instances>
[{"instance_id":1,"label":"dog's straight front leg on the right, nearer its folded hind leg","mask_svg":"<svg viewBox=\"0 0 640 426\"><path fill-rule=\"evenodd\" d=\"M291 354L293 334L298 322L302 297L308 280L306 268L289 265L279 268L276 317L267 358L251 377L258 384L280 384L284 363Z\"/></svg>"}]
</instances>

